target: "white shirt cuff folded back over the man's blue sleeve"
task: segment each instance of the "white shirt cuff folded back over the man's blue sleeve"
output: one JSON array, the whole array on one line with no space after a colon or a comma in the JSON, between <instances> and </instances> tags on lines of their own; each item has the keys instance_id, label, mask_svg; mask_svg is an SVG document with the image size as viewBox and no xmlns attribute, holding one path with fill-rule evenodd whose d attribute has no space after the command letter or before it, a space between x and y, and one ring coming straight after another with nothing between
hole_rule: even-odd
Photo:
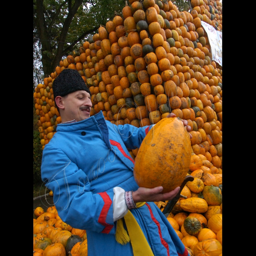
<instances>
[{"instance_id":1,"label":"white shirt cuff folded back over the man's blue sleeve","mask_svg":"<svg viewBox=\"0 0 256 256\"><path fill-rule=\"evenodd\" d=\"M128 208L125 204L124 200L124 192L125 190L120 187L113 188L114 197L113 197L113 219L117 221L124 217L128 212Z\"/></svg>"}]
</instances>

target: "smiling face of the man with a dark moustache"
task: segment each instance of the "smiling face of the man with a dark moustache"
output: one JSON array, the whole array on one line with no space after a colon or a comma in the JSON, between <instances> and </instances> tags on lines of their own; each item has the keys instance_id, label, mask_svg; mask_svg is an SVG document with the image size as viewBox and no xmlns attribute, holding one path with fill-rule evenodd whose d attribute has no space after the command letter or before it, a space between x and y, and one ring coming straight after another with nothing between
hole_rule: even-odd
<instances>
[{"instance_id":1,"label":"smiling face of the man with a dark moustache","mask_svg":"<svg viewBox=\"0 0 256 256\"><path fill-rule=\"evenodd\" d=\"M91 103L90 94L87 91L79 90L69 93L63 97L64 110L61 114L63 122L82 121L90 117Z\"/></svg>"}]
</instances>

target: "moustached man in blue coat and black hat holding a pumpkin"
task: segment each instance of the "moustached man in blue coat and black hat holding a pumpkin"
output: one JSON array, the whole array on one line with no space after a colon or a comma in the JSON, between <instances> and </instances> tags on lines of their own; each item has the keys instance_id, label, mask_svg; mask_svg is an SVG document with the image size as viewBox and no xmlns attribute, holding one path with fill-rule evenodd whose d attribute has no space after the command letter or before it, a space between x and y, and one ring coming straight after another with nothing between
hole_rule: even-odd
<instances>
[{"instance_id":1,"label":"moustached man in blue coat and black hat holding a pumpkin","mask_svg":"<svg viewBox=\"0 0 256 256\"><path fill-rule=\"evenodd\" d=\"M74 69L57 76L53 94L62 123L44 148L42 180L53 191L60 218L86 230L88 255L187 256L154 203L171 200L180 188L139 188L133 177L127 148L139 147L153 125L117 127L102 112L90 117L90 90Z\"/></svg>"}]
</instances>

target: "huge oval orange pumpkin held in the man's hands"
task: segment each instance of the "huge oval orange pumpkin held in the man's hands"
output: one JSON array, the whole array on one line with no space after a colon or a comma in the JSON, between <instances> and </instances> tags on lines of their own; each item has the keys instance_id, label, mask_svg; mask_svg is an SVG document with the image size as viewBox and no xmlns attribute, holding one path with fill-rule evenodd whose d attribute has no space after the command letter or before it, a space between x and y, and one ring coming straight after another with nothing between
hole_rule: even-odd
<instances>
[{"instance_id":1,"label":"huge oval orange pumpkin held in the man's hands","mask_svg":"<svg viewBox=\"0 0 256 256\"><path fill-rule=\"evenodd\" d=\"M133 173L140 187L163 187L163 193L181 185L191 159L187 129L178 118L163 118L147 133L136 155Z\"/></svg>"}]
</instances>

